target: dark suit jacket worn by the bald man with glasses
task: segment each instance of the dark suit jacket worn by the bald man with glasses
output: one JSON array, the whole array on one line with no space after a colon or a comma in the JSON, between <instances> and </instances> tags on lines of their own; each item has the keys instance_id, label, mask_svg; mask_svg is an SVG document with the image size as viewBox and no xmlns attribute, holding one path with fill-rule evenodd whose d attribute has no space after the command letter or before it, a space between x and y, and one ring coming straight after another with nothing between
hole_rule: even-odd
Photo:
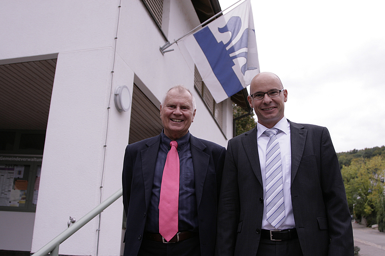
<instances>
[{"instance_id":1,"label":"dark suit jacket worn by the bald man with glasses","mask_svg":"<svg viewBox=\"0 0 385 256\"><path fill-rule=\"evenodd\" d=\"M290 132L292 206L303 255L352 256L351 216L329 132L325 127L292 122ZM263 183L256 142L256 127L228 141L218 206L217 255L257 253Z\"/></svg>"}]
</instances>

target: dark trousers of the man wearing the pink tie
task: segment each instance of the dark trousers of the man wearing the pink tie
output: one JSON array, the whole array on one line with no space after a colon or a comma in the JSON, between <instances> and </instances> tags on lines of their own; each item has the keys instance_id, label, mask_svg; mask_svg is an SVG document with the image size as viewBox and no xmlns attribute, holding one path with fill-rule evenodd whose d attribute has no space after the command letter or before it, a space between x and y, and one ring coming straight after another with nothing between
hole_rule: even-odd
<instances>
[{"instance_id":1,"label":"dark trousers of the man wearing the pink tie","mask_svg":"<svg viewBox=\"0 0 385 256\"><path fill-rule=\"evenodd\" d=\"M162 243L143 239L138 256L201 256L199 236L177 243Z\"/></svg>"}]
</instances>

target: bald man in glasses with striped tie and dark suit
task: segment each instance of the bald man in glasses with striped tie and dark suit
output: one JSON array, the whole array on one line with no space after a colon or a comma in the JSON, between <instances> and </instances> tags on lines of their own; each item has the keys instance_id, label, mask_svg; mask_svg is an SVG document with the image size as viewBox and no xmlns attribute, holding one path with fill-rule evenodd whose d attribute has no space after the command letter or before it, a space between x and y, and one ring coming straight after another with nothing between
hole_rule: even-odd
<instances>
[{"instance_id":1,"label":"bald man in glasses with striped tie and dark suit","mask_svg":"<svg viewBox=\"0 0 385 256\"><path fill-rule=\"evenodd\" d=\"M287 120L287 95L273 73L260 73L251 81L248 101L258 123L228 141L217 255L354 253L351 217L329 132Z\"/></svg>"}]
</instances>

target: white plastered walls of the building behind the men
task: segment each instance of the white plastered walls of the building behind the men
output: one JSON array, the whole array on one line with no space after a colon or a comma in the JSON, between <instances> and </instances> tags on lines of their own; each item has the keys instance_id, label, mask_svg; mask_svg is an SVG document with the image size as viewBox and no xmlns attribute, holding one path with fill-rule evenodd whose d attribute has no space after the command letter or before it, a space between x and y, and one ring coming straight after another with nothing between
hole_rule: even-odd
<instances>
[{"instance_id":1,"label":"white plastered walls of the building behind the men","mask_svg":"<svg viewBox=\"0 0 385 256\"><path fill-rule=\"evenodd\" d=\"M170 41L199 25L190 1L165 2ZM178 43L162 55L165 39L139 0L2 1L0 22L7 24L0 26L0 59L59 53L32 244L0 244L0 249L30 246L35 252L67 228L69 216L80 219L100 196L104 200L121 188L130 111L115 109L117 86L127 85L132 96L134 79L140 80L161 101L168 88L184 84L197 99L190 132L223 146L232 136L230 100L224 103L226 139L194 89L194 62L187 50ZM122 198L101 214L99 255L120 255L122 215ZM18 225L16 217L8 217ZM59 253L95 255L98 222L96 217L67 239ZM2 239L3 234L0 230Z\"/></svg>"}]
</instances>

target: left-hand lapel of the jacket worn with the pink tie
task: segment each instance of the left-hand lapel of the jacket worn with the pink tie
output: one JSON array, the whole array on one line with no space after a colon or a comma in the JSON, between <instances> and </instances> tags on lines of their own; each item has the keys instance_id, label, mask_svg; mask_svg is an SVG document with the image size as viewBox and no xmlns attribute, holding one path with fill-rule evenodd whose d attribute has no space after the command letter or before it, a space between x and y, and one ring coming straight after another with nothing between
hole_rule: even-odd
<instances>
[{"instance_id":1,"label":"left-hand lapel of the jacket worn with the pink tie","mask_svg":"<svg viewBox=\"0 0 385 256\"><path fill-rule=\"evenodd\" d=\"M142 161L142 174L144 181L144 191L145 191L145 200L146 206L150 201L153 176L155 173L155 165L158 156L158 150L161 143L161 135L154 137L153 139L147 141L146 149L143 149L140 152L141 161Z\"/></svg>"}]
</instances>

